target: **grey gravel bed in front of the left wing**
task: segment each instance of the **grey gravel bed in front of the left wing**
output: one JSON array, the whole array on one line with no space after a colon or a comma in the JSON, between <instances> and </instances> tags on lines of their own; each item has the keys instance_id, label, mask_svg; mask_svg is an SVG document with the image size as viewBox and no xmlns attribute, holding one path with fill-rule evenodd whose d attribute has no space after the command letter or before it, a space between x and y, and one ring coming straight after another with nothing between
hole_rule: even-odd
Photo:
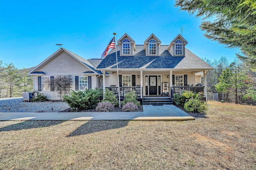
<instances>
[{"instance_id":1,"label":"grey gravel bed in front of the left wing","mask_svg":"<svg viewBox=\"0 0 256 170\"><path fill-rule=\"evenodd\" d=\"M0 112L59 112L68 108L65 102L23 102L22 98L0 100Z\"/></svg>"}]
</instances>

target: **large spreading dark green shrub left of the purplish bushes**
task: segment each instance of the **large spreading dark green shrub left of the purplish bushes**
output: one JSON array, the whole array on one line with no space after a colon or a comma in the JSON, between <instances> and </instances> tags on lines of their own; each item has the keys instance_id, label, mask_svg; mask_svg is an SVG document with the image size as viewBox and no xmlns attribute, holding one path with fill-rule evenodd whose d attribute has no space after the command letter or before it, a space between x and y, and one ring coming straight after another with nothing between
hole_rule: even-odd
<instances>
[{"instance_id":1,"label":"large spreading dark green shrub left of the purplish bushes","mask_svg":"<svg viewBox=\"0 0 256 170\"><path fill-rule=\"evenodd\" d=\"M102 89L89 89L84 91L72 91L70 96L64 96L64 101L71 109L92 109L103 99Z\"/></svg>"}]
</instances>

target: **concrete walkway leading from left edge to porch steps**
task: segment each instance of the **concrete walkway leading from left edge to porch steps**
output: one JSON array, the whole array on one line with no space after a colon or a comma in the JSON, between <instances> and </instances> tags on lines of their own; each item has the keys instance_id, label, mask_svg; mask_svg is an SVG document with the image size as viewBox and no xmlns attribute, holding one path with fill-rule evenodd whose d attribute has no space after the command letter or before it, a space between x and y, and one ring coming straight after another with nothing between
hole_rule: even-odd
<instances>
[{"instance_id":1,"label":"concrete walkway leading from left edge to porch steps","mask_svg":"<svg viewBox=\"0 0 256 170\"><path fill-rule=\"evenodd\" d=\"M184 121L195 120L173 105L144 105L140 112L2 112L0 120L138 120Z\"/></svg>"}]
</instances>

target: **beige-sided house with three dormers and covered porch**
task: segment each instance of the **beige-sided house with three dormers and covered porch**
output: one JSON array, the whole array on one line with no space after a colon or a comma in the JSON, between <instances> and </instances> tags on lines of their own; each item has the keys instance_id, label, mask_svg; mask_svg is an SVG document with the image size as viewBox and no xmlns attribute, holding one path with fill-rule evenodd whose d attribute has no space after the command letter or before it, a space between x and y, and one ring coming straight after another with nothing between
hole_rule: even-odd
<instances>
[{"instance_id":1,"label":"beige-sided house with three dormers and covered porch","mask_svg":"<svg viewBox=\"0 0 256 170\"><path fill-rule=\"evenodd\" d=\"M213 68L186 49L186 39L177 35L169 45L162 45L153 33L143 45L136 45L127 33L118 39L116 49L112 49L104 59L83 59L60 48L28 74L34 76L34 90L55 100L50 88L53 76L70 75L74 80L73 90L84 88L108 88L118 96L135 90L139 98L147 96L170 96L184 90L202 92L204 86L191 86L201 83L206 73ZM116 64L118 59L118 72ZM118 81L119 79L119 81Z\"/></svg>"}]
</instances>

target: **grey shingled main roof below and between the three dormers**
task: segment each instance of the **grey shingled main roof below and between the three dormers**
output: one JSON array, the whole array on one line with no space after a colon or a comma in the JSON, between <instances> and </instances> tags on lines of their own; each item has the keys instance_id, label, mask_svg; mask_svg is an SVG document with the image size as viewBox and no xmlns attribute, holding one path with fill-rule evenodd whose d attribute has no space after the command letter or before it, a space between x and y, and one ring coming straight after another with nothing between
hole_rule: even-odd
<instances>
[{"instance_id":1,"label":"grey shingled main roof below and between the three dormers","mask_svg":"<svg viewBox=\"0 0 256 170\"><path fill-rule=\"evenodd\" d=\"M168 45L160 45L159 56L146 56L143 45L136 45L134 56L120 56L120 47L117 46L117 58L119 69L206 69L213 68L197 57L194 53L185 49L185 57L172 56L167 51ZM96 69L114 69L116 68L116 50L112 49L110 53L102 60Z\"/></svg>"}]
</instances>

